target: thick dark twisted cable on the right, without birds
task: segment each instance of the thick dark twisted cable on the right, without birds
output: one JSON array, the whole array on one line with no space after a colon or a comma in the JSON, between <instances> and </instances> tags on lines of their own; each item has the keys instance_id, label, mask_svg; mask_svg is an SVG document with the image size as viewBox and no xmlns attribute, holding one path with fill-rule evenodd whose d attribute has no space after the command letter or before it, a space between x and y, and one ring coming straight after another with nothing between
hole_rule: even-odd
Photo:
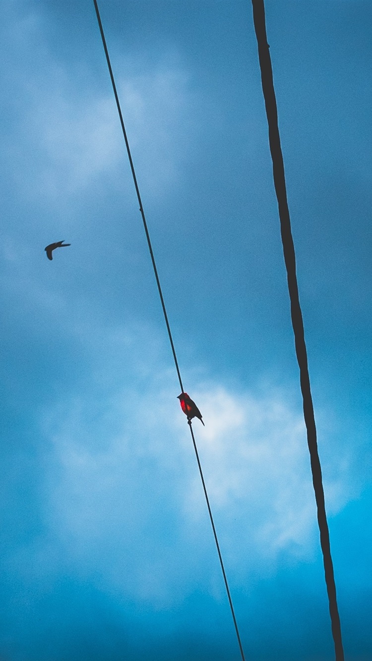
<instances>
[{"instance_id":1,"label":"thick dark twisted cable on the right, without birds","mask_svg":"<svg viewBox=\"0 0 372 661\"><path fill-rule=\"evenodd\" d=\"M281 151L281 142L278 128L277 103L273 85L273 70L271 67L269 45L267 44L265 6L263 0L252 0L252 5L254 27L256 30L258 44L259 66L261 68L263 97L265 98L267 124L269 126L269 145L271 151L271 159L273 161L274 185L275 192L277 194L279 217L281 223L281 240L283 243L285 266L287 268L289 297L291 299L291 319L293 332L295 334L297 362L299 363L300 368L300 383L303 400L304 420L306 424L308 449L310 452L312 484L314 486L317 506L318 525L320 530L320 545L322 547L323 553L324 574L326 578L330 617L332 623L332 635L334 639L336 661L344 661L340 615L338 613L336 584L334 582L334 570L330 550L330 535L328 531L326 507L324 503L322 469L320 467L318 444L316 442L316 426L310 390L306 344L304 340L304 325L302 321L302 312L299 301L299 288L297 285L295 247L293 245L291 219L289 217L287 190L285 186L283 154Z\"/></svg>"}]
</instances>

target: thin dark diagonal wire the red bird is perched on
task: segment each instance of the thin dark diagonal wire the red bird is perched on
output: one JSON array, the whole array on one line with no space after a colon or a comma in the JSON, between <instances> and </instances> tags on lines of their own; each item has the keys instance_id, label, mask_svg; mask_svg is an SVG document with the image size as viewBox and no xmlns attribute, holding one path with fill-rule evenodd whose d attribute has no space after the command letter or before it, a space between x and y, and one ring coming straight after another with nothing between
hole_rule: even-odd
<instances>
[{"instance_id":1,"label":"thin dark diagonal wire the red bird is perched on","mask_svg":"<svg viewBox=\"0 0 372 661\"><path fill-rule=\"evenodd\" d=\"M156 278L156 284L158 285L158 292L159 292L159 295L160 295L160 301L161 301L161 303L162 303L162 309L163 309L163 315L164 315L164 319L165 319L165 325L166 325L166 327L167 327L167 331L168 331L169 342L171 343L171 350L172 350L172 353L173 353L173 359L174 359L174 362L175 362L175 368L177 369L177 376L178 376L178 380L179 380L179 385L181 386L181 392L183 393L183 385L182 385L181 373L180 373L180 371L179 371L179 365L178 365L177 356L176 356L176 353L175 353L175 348L174 348L174 344L173 344L173 338L172 338L171 329L170 329L169 321L168 321L168 317L167 317L167 311L166 311L166 309L165 309L165 303L164 303L164 299L163 299L162 287L160 286L160 280L159 280L159 276L158 276L158 269L156 268L156 262L155 262L154 252L152 251L152 245L151 245L151 241L150 241L150 234L149 234L149 232L148 232L148 226L147 226L147 223L146 223L146 217L145 217L144 209L143 209L143 206L142 206L142 200L141 200L141 196L140 196L140 190L139 190L139 188L138 188L138 183L137 183L136 173L135 173L135 171L134 171L134 165L133 165L133 161L132 161L132 155L131 155L131 153L130 153L130 147L129 147L128 137L126 136L126 130L125 130L125 126L124 126L124 120L123 120L123 118L122 118L122 112L121 112L121 108L120 108L120 102L119 102L119 99L118 99L118 93L117 93L117 91L116 91L116 85L115 85L115 79L114 79L114 75L113 75L113 69L112 69L112 67L111 67L111 61L110 61L110 57L109 57L109 51L107 50L107 44L106 44L106 39L105 39L105 33L103 32L103 26L102 26L102 22L101 22L101 16L100 16L100 14L99 14L99 9L98 9L98 5L97 5L97 0L93 0L93 2L94 2L94 6L95 6L95 13L97 14L97 20L98 20L98 24L99 24L99 31L101 32L101 38L102 38L102 42L103 42L103 48L104 48L104 50L105 50L105 55L106 55L106 59L107 59L107 65L108 65L108 67L109 67L109 72L110 72L110 77L111 77L111 83L112 83L112 85L113 85L113 91L114 91L114 95L115 95L116 106L117 106L118 114L119 114L119 118L120 118L120 124L121 124L121 128L122 128L122 134L123 134L123 136L124 136L124 140L125 140L126 151L127 151L127 153L128 153L128 159L129 159L129 163L130 163L130 169L132 170L132 176L133 176L133 180L134 180L134 186L135 186L135 188L136 188L136 193L137 193L138 203L140 204L140 212L141 212L141 215L142 215L142 221L143 221L143 223L144 223L144 230L145 230L145 233L146 233L146 239L147 239L147 243L148 243L148 249L149 249L149 251L150 251L150 256L151 256L151 260L152 260L152 266L153 266L153 268L154 268L154 274L155 274L155 278ZM220 565L221 565L221 569L222 569L222 575L223 575L223 577L224 577L224 584L225 584L226 592L227 592L227 596L228 596L228 603L230 604L230 610L231 610L231 614L232 614L232 619L233 619L233 621L234 621L234 627L235 627L235 631L236 631L236 637L237 637L237 639L238 639L238 644L239 644L240 654L241 654L241 656L242 656L242 661L245 661L245 658L244 658L244 652L243 652L243 648L242 648L242 642L241 642L241 640L240 640L240 635L239 635L239 630L238 630L238 624L237 624L237 622L236 622L236 617L235 617L235 613L234 613L234 606L232 605L232 599L231 599L231 596L230 596L230 590L229 590L229 587L228 587L228 581L227 581L227 578L226 578L226 572L225 572L225 568L224 568L224 563L223 563L223 561L222 561L222 555L221 555L221 552L220 552L220 545L219 545L219 543L218 543L218 538L217 538L216 528L215 528L215 526L214 526L214 521L213 521L213 516L212 516L212 510L210 509L209 497L208 497L208 493L207 493L207 487L205 486L205 480L204 480L204 477L203 477L203 471L202 471L202 468L201 468L201 463L200 463L200 459L199 459L199 453L198 453L198 450L197 450L197 444L196 444L196 442L195 442L194 432L193 432L193 428L192 428L192 426L191 426L191 420L190 420L189 418L188 418L188 423L189 423L189 427L190 427L191 438L193 439L193 446L194 446L194 449L195 449L195 455L196 455L196 457L197 457L197 463L198 463L198 467L199 467L199 473L200 473L201 481L202 481L202 484L203 484L203 490L204 490L204 494L205 494L205 500L207 501L207 507L208 507L208 512L209 512L210 523L212 524L212 531L213 531L213 535L214 535L214 541L216 542L216 548L217 548L217 552L218 552L218 559L220 560Z\"/></svg>"}]
</instances>

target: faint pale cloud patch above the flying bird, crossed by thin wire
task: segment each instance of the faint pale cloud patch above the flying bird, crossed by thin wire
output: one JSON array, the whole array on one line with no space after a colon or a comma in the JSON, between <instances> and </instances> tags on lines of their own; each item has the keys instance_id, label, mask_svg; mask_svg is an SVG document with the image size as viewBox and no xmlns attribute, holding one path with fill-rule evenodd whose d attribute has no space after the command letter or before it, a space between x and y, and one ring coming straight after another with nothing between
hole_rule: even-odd
<instances>
[{"instance_id":1,"label":"faint pale cloud patch above the flying bird, crossed by thin wire","mask_svg":"<svg viewBox=\"0 0 372 661\"><path fill-rule=\"evenodd\" d=\"M59 67L51 71L51 79L52 89L41 98L39 81L34 82L32 115L23 127L25 133L31 128L40 150L42 167L35 176L40 177L42 190L56 196L62 186L65 194L74 194L103 173L111 173L114 183L120 181L120 188L127 190L132 181L124 165L126 148L113 93L103 96L89 90L84 98ZM154 63L149 73L128 73L116 84L140 181L158 197L177 180L179 161L187 149L183 118L187 77L183 71L159 69Z\"/></svg>"}]
</instances>

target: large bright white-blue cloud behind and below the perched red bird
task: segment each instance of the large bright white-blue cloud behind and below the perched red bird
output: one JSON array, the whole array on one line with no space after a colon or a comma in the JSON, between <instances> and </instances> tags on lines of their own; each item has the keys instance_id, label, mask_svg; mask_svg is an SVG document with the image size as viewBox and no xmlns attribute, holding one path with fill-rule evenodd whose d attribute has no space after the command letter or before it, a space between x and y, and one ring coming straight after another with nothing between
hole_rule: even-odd
<instances>
[{"instance_id":1,"label":"large bright white-blue cloud behind and below the perched red bird","mask_svg":"<svg viewBox=\"0 0 372 661\"><path fill-rule=\"evenodd\" d=\"M85 393L42 412L49 543L63 549L71 571L99 576L109 594L164 609L182 602L196 580L222 600L191 438L169 385L173 373L154 333L137 329L137 339L140 332L142 346L154 352L148 371L130 341L133 329L121 336L116 329L110 374L98 366ZM232 583L271 574L279 561L312 561L318 531L301 412L278 391L238 393L205 381L191 395L205 420L194 430ZM328 488L332 513L348 500L342 460L340 453Z\"/></svg>"}]
</instances>

